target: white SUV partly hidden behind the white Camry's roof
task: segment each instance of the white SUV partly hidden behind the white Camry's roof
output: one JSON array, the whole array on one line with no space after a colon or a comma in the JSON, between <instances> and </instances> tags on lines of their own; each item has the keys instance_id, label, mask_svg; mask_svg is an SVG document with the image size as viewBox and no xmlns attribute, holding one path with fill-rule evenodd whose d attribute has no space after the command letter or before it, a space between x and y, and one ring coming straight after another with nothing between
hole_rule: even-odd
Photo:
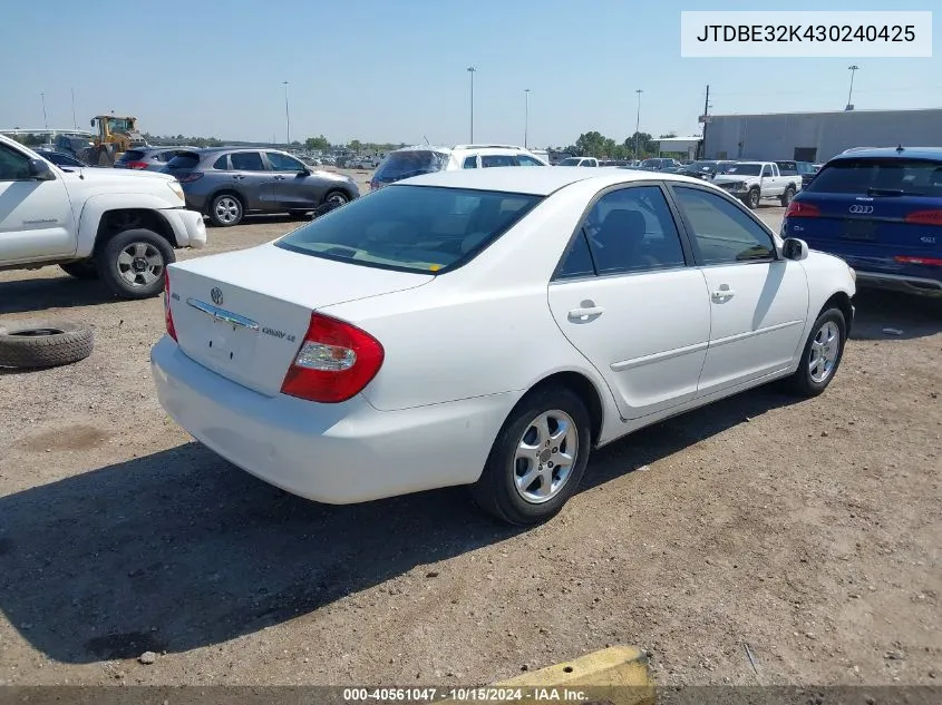
<instances>
[{"instance_id":1,"label":"white SUV partly hidden behind the white Camry's roof","mask_svg":"<svg viewBox=\"0 0 942 705\"><path fill-rule=\"evenodd\" d=\"M423 145L402 147L390 151L370 180L376 190L411 176L447 172L450 169L478 169L493 166L550 166L523 147L514 145L455 145L433 147Z\"/></svg>"}]
</instances>

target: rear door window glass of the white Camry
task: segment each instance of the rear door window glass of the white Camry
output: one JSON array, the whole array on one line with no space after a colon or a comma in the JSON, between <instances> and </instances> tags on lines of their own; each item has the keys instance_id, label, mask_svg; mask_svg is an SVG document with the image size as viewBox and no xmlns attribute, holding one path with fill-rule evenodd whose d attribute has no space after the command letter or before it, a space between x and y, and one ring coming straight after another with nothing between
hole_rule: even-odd
<instances>
[{"instance_id":1,"label":"rear door window glass of the white Camry","mask_svg":"<svg viewBox=\"0 0 942 705\"><path fill-rule=\"evenodd\" d=\"M583 229L599 274L686 264L680 234L658 186L633 186L605 194L589 212Z\"/></svg>"}]
</instances>

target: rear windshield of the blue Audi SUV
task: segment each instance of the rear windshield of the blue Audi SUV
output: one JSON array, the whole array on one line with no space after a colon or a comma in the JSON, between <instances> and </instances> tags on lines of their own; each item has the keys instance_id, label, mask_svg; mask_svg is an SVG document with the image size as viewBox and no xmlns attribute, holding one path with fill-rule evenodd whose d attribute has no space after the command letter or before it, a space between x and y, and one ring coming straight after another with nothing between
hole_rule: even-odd
<instances>
[{"instance_id":1,"label":"rear windshield of the blue Audi SUV","mask_svg":"<svg viewBox=\"0 0 942 705\"><path fill-rule=\"evenodd\" d=\"M818 172L805 190L942 197L942 161L892 157L838 159Z\"/></svg>"}]
</instances>

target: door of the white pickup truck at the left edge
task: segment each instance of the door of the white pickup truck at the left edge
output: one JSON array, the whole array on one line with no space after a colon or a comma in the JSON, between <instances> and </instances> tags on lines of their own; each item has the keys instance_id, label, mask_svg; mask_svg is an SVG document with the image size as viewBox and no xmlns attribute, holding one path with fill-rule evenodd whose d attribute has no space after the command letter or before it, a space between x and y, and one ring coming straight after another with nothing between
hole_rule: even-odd
<instances>
[{"instance_id":1,"label":"door of the white pickup truck at the left edge","mask_svg":"<svg viewBox=\"0 0 942 705\"><path fill-rule=\"evenodd\" d=\"M30 158L0 144L0 262L41 261L76 249L66 175L50 167L55 178L38 180L30 175Z\"/></svg>"}]
</instances>

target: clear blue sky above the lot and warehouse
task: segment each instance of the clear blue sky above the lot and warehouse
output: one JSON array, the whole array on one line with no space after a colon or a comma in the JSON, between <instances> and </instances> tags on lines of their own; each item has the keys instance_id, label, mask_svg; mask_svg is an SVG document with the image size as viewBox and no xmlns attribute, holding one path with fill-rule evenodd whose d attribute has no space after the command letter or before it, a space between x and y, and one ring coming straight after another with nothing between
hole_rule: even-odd
<instances>
[{"instance_id":1,"label":"clear blue sky above the lot and warehouse","mask_svg":"<svg viewBox=\"0 0 942 705\"><path fill-rule=\"evenodd\" d=\"M847 66L865 108L942 106L940 42L931 59L683 59L681 10L932 10L938 0L8 0L0 23L0 128L79 127L115 110L152 134L331 141L468 139L566 145L587 130L624 139L697 130L711 112L842 109ZM941 128L942 129L942 128Z\"/></svg>"}]
</instances>

